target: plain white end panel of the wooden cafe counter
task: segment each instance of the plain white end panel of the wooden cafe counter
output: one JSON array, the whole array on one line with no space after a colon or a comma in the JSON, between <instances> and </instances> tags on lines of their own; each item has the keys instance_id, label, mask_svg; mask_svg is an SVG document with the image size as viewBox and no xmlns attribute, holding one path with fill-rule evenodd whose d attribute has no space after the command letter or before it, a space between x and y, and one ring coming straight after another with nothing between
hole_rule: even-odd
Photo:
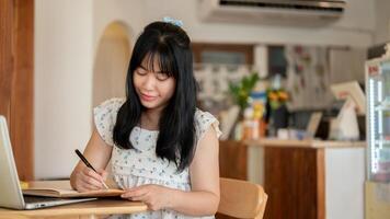
<instances>
[{"instance_id":1,"label":"plain white end panel of the wooden cafe counter","mask_svg":"<svg viewBox=\"0 0 390 219\"><path fill-rule=\"evenodd\" d=\"M325 216L364 219L365 148L325 150Z\"/></svg>"}]
</instances>

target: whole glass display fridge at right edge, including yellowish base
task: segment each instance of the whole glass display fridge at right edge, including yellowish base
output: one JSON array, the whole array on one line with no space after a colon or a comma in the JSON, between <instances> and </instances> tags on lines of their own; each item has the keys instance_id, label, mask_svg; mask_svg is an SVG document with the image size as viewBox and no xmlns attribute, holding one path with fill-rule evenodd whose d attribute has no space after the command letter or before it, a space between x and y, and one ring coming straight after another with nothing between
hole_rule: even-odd
<instances>
[{"instance_id":1,"label":"whole glass display fridge at right edge, including yellowish base","mask_svg":"<svg viewBox=\"0 0 390 219\"><path fill-rule=\"evenodd\" d=\"M365 218L390 215L390 46L381 58L366 61L367 178Z\"/></svg>"}]
</instances>

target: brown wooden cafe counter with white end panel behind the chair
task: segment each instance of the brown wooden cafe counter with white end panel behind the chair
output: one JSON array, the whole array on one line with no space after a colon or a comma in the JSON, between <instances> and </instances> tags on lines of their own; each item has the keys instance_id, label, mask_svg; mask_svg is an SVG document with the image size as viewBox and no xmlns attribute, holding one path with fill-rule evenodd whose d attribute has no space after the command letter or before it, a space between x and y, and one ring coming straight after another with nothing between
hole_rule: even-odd
<instances>
[{"instance_id":1,"label":"brown wooden cafe counter with white end panel behind the chair","mask_svg":"<svg viewBox=\"0 0 390 219\"><path fill-rule=\"evenodd\" d=\"M263 185L265 219L363 219L365 147L365 141L220 141L220 174Z\"/></svg>"}]
</instances>

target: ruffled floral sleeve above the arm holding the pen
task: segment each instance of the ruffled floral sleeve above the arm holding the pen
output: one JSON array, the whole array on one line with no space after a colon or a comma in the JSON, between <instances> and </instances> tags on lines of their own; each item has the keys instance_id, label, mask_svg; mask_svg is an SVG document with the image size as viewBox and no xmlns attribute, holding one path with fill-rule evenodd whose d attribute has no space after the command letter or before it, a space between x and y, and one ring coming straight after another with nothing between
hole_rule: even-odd
<instances>
[{"instance_id":1,"label":"ruffled floral sleeve above the arm holding the pen","mask_svg":"<svg viewBox=\"0 0 390 219\"><path fill-rule=\"evenodd\" d=\"M114 146L113 129L116 115L124 104L124 99L110 99L93 108L93 120L101 138L110 146Z\"/></svg>"}]
</instances>

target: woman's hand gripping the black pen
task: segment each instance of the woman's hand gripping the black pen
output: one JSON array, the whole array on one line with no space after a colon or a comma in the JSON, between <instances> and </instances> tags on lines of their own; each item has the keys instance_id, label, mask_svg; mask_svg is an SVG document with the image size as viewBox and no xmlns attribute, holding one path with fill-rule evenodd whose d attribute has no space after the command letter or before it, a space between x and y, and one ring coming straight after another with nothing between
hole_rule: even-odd
<instances>
[{"instance_id":1,"label":"woman's hand gripping the black pen","mask_svg":"<svg viewBox=\"0 0 390 219\"><path fill-rule=\"evenodd\" d=\"M96 170L94 172L88 166L74 170L71 175L71 185L78 192L99 191L103 189L103 182L107 178L105 170Z\"/></svg>"}]
</instances>

